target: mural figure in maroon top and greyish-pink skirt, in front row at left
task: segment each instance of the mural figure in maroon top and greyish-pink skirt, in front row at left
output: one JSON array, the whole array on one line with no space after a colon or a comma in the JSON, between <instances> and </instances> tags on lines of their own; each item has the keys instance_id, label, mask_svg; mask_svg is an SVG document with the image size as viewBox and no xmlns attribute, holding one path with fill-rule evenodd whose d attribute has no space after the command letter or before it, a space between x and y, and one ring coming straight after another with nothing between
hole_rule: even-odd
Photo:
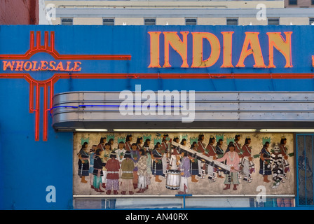
<instances>
[{"instance_id":1,"label":"mural figure in maroon top and greyish-pink skirt, in front row at left","mask_svg":"<svg viewBox=\"0 0 314 224\"><path fill-rule=\"evenodd\" d=\"M114 195L118 195L120 164L119 164L119 161L116 159L115 152L112 152L110 154L110 159L107 161L105 167L107 169L106 194L110 195L111 190L114 190Z\"/></svg>"}]
</instances>

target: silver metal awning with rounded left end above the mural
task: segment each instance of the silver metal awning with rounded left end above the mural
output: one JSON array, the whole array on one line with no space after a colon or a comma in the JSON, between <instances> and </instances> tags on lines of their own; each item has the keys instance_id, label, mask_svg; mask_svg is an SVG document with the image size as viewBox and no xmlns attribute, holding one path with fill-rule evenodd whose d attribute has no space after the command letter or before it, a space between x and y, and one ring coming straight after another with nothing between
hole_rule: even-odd
<instances>
[{"instance_id":1,"label":"silver metal awning with rounded left end above the mural","mask_svg":"<svg viewBox=\"0 0 314 224\"><path fill-rule=\"evenodd\" d=\"M57 131L310 129L314 92L62 92L50 113Z\"/></svg>"}]
</instances>

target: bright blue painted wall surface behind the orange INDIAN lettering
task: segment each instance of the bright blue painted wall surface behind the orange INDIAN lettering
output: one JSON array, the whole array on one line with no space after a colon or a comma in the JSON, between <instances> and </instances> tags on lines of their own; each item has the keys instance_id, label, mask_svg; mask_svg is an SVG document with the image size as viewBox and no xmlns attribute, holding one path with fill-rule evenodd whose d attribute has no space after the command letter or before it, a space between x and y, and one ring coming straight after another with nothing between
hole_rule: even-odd
<instances>
[{"instance_id":1,"label":"bright blue painted wall surface behind the orange INDIAN lettering","mask_svg":"<svg viewBox=\"0 0 314 224\"><path fill-rule=\"evenodd\" d=\"M313 26L0 26L0 55L24 54L29 49L30 31L41 31L42 40L43 31L55 31L55 48L60 54L132 55L131 61L82 62L82 73L313 72L311 65L311 55L314 55ZM179 68L182 62L180 57L171 50L171 63L173 63L171 69L148 69L149 34L147 31L209 31L219 38L221 45L220 32L235 31L234 64L238 62L245 31L260 32L259 41L266 64L268 64L266 32L293 31L292 64L294 66L291 69L284 69L285 59L276 52L276 69L252 68L254 64L252 55L245 60L247 64L245 69L220 69L222 54L218 62L210 68L182 69ZM189 43L191 46L191 35ZM162 54L163 50L161 50ZM32 57L32 60L42 59L48 61L53 58L46 53ZM2 60L0 63L2 66ZM191 65L191 47L189 47L189 64ZM4 73L2 67L0 72ZM31 75L37 80L45 80L53 73L47 71L31 73ZM78 90L135 90L135 84L142 84L142 90L314 91L313 79L62 79L55 83L55 93ZM43 94L41 94L41 106L42 102ZM72 133L56 133L51 127L52 122L49 117L48 141L42 141L42 136L40 141L34 141L34 121L34 114L29 113L29 83L24 79L0 78L0 209L71 209ZM47 186L55 186L55 203L46 202Z\"/></svg>"}]
</instances>

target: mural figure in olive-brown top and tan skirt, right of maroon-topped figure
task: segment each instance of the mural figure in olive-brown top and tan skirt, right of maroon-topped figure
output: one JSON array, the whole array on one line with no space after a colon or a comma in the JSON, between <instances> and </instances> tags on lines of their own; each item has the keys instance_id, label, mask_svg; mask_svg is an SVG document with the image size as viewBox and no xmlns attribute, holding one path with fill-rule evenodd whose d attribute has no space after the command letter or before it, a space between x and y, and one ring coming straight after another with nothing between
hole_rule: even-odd
<instances>
[{"instance_id":1,"label":"mural figure in olive-brown top and tan skirt, right of maroon-topped figure","mask_svg":"<svg viewBox=\"0 0 314 224\"><path fill-rule=\"evenodd\" d=\"M133 195L133 170L134 162L131 160L131 153L129 151L125 152L125 160L122 161L121 170L121 194L125 195L127 192Z\"/></svg>"}]
</instances>

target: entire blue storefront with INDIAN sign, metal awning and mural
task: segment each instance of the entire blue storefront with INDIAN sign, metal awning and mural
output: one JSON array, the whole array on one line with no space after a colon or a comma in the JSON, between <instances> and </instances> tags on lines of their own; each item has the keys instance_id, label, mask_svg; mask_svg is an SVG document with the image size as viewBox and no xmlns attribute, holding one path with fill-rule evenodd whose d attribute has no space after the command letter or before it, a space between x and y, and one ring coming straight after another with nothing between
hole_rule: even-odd
<instances>
[{"instance_id":1,"label":"entire blue storefront with INDIAN sign, metal awning and mural","mask_svg":"<svg viewBox=\"0 0 314 224\"><path fill-rule=\"evenodd\" d=\"M1 208L313 207L311 28L1 26Z\"/></svg>"}]
</instances>

